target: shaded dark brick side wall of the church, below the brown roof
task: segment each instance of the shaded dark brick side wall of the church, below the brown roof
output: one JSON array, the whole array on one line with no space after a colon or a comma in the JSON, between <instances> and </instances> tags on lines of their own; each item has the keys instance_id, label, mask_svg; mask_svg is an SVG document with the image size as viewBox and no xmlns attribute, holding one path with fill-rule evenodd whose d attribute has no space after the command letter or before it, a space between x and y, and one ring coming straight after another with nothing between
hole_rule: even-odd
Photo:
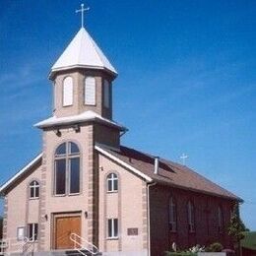
<instances>
[{"instance_id":1,"label":"shaded dark brick side wall of the church, below the brown roof","mask_svg":"<svg viewBox=\"0 0 256 256\"><path fill-rule=\"evenodd\" d=\"M168 226L168 201L170 195L176 201L177 230L171 232ZM187 203L195 206L195 232L189 232ZM219 241L225 248L231 247L227 235L230 209L234 202L205 194L178 188L154 186L150 190L151 208L151 248L152 256L169 250L175 242L178 248L188 248L200 244L208 245ZM219 231L218 207L223 209L224 231Z\"/></svg>"}]
</instances>

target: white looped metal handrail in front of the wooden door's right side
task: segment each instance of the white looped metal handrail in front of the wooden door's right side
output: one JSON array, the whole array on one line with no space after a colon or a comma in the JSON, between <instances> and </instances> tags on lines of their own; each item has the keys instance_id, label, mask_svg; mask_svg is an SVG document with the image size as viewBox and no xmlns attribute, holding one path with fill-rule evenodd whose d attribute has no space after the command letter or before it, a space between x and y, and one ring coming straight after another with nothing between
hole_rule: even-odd
<instances>
[{"instance_id":1,"label":"white looped metal handrail in front of the wooden door's right side","mask_svg":"<svg viewBox=\"0 0 256 256\"><path fill-rule=\"evenodd\" d=\"M80 252L83 255L87 255L83 252L83 250L87 250L93 255L96 255L98 253L98 248L95 244L89 242L85 238L81 237L77 233L71 233L70 234L70 240L74 242L74 249L76 249L78 252ZM79 242L79 241L80 242Z\"/></svg>"}]
</instances>

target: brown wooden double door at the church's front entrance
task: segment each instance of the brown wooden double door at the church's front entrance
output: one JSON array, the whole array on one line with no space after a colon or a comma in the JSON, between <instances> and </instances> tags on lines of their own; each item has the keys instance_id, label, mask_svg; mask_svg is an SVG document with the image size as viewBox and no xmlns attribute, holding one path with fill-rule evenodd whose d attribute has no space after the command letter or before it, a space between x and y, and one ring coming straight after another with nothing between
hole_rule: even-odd
<instances>
[{"instance_id":1,"label":"brown wooden double door at the church's front entrance","mask_svg":"<svg viewBox=\"0 0 256 256\"><path fill-rule=\"evenodd\" d=\"M81 236L81 216L56 216L54 225L54 249L74 248L70 234Z\"/></svg>"}]
</instances>

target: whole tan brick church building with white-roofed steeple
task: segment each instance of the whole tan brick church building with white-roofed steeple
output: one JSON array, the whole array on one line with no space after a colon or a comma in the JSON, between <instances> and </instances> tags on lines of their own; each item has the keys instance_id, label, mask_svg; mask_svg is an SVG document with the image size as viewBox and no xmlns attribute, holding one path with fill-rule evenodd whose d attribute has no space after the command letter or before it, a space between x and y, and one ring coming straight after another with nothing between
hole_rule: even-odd
<instances>
[{"instance_id":1,"label":"whole tan brick church building with white-roofed steeple","mask_svg":"<svg viewBox=\"0 0 256 256\"><path fill-rule=\"evenodd\" d=\"M128 130L112 119L116 77L82 26L50 70L52 114L34 125L41 153L0 187L2 255L232 247L226 229L242 200L183 164L123 146Z\"/></svg>"}]
</instances>

